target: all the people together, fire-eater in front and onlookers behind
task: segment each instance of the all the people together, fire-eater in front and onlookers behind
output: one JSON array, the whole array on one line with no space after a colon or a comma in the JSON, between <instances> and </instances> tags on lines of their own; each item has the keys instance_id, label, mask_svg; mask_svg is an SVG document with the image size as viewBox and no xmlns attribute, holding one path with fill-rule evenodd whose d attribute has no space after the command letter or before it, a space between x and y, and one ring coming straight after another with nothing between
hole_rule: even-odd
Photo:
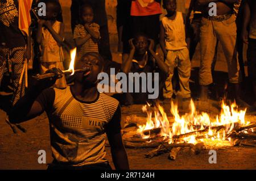
<instances>
[{"instance_id":1,"label":"all the people together, fire-eater in front and onlookers behind","mask_svg":"<svg viewBox=\"0 0 256 181\"><path fill-rule=\"evenodd\" d=\"M14 92L11 101L13 109L9 113L11 123L21 123L47 112L54 158L50 169L88 169L88 166L109 169L104 159L106 135L115 167L129 168L120 133L120 104L97 91L98 73L112 66L119 67L118 71L125 74L159 73L159 99L173 98L175 88L172 80L176 76L179 81L176 95L187 102L191 99L191 59L197 43L200 43L200 104L209 107L207 100L209 85L213 83L212 64L217 44L220 44L228 65L233 99L241 107L251 107L240 96L242 68L238 61L241 53L238 47L241 43L248 44L249 78L255 95L255 1L191 0L186 14L182 10L184 4L180 6L184 2L181 0L118 0L117 31L122 64L117 65L112 62L110 52L105 0L73 0L71 24L77 47L75 67L89 71L76 73L72 86L60 71L64 69L63 51L68 47L64 40L60 3L58 0L43 2L46 3L46 16L36 19L35 27L30 28L32 34L24 36L18 26L18 1L1 1L0 82L3 74L9 73ZM214 16L209 14L210 2L216 5L217 14ZM161 6L167 12L162 18ZM241 32L237 28L238 12L244 12L241 13ZM36 81L25 94L24 60L31 58L31 35L35 47L38 47L34 49L38 53L40 73L56 76ZM158 44L163 58L156 53ZM144 104L148 101L147 94L126 92L121 100L126 105ZM256 101L253 106L256 106Z\"/></svg>"}]
</instances>

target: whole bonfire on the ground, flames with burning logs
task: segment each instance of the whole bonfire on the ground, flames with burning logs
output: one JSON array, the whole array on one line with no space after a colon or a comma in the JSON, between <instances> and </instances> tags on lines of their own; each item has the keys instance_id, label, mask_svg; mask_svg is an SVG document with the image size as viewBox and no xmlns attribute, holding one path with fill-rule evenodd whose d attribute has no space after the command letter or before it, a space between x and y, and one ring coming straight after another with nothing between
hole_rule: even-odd
<instances>
[{"instance_id":1,"label":"whole bonfire on the ground, flames with burning logs","mask_svg":"<svg viewBox=\"0 0 256 181\"><path fill-rule=\"evenodd\" d=\"M222 102L220 115L196 111L191 100L190 112L181 115L177 104L171 102L171 115L159 103L154 108L147 104L142 111L147 114L146 124L133 124L126 121L123 129L123 141L127 148L156 148L146 154L155 155L170 152L169 158L175 159L183 147L189 147L196 154L201 149L223 146L255 146L256 124L245 120L245 110L236 103L226 105Z\"/></svg>"}]
</instances>

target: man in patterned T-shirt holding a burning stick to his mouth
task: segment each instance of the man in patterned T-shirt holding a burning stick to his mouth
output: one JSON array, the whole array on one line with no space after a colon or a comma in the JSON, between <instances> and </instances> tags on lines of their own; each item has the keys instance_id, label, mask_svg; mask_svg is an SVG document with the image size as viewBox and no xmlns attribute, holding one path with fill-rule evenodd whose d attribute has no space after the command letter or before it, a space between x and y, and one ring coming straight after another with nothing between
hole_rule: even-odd
<instances>
[{"instance_id":1,"label":"man in patterned T-shirt holding a burning stick to his mouth","mask_svg":"<svg viewBox=\"0 0 256 181\"><path fill-rule=\"evenodd\" d=\"M86 53L75 64L73 86L52 89L59 69L47 73L55 76L36 81L9 115L11 123L21 123L47 112L53 162L48 169L111 169L104 158L108 136L115 169L129 169L121 137L121 108L116 99L97 90L97 75L104 60L96 52Z\"/></svg>"}]
</instances>

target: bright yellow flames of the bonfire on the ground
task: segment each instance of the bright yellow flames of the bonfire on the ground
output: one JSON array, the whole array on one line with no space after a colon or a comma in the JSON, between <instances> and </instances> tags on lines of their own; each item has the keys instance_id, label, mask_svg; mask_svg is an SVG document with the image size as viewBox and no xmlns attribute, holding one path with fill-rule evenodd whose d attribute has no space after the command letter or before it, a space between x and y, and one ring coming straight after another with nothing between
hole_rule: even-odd
<instances>
[{"instance_id":1,"label":"bright yellow flames of the bonfire on the ground","mask_svg":"<svg viewBox=\"0 0 256 181\"><path fill-rule=\"evenodd\" d=\"M145 135L144 131L160 128L160 132L156 134L163 137L163 140L167 140L169 144L173 142L196 144L197 141L205 139L209 139L209 141L224 141L226 140L226 135L232 132L237 125L250 124L249 121L245 121L246 110L239 110L236 103L228 106L222 101L221 108L220 115L210 116L209 113L206 112L197 112L195 104L191 100L191 111L185 113L185 115L180 115L177 104L171 102L170 112L174 116L174 120L171 120L168 119L166 112L164 112L164 108L160 106L159 103L157 103L154 108L150 107L150 104L147 104L142 107L142 111L147 113L147 121L144 125L138 125L138 133L141 134L142 138L150 138L151 135ZM216 132L214 127L218 126L221 127L218 132ZM197 132L195 132L200 130L207 130L207 133L203 136L202 134L197 134ZM174 137L189 132L195 132L195 134L189 134L187 137L179 139ZM203 136L204 139L199 138L199 136Z\"/></svg>"}]
</instances>

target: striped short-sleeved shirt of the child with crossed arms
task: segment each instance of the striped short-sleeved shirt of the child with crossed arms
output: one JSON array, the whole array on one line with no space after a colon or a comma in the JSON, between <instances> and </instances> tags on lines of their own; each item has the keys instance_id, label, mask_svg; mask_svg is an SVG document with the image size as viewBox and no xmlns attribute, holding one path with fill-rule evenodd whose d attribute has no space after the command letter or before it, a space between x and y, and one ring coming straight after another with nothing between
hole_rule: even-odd
<instances>
[{"instance_id":1,"label":"striped short-sleeved shirt of the child with crossed arms","mask_svg":"<svg viewBox=\"0 0 256 181\"><path fill-rule=\"evenodd\" d=\"M93 31L100 33L100 26L98 24L92 23L90 28ZM82 38L86 35L88 35L88 32L85 30L84 26L82 26L82 24L77 24L74 30L73 39ZM78 48L77 58L80 59L85 53L88 52L98 53L98 40L94 37L90 37L90 39L87 40L85 44Z\"/></svg>"}]
</instances>

